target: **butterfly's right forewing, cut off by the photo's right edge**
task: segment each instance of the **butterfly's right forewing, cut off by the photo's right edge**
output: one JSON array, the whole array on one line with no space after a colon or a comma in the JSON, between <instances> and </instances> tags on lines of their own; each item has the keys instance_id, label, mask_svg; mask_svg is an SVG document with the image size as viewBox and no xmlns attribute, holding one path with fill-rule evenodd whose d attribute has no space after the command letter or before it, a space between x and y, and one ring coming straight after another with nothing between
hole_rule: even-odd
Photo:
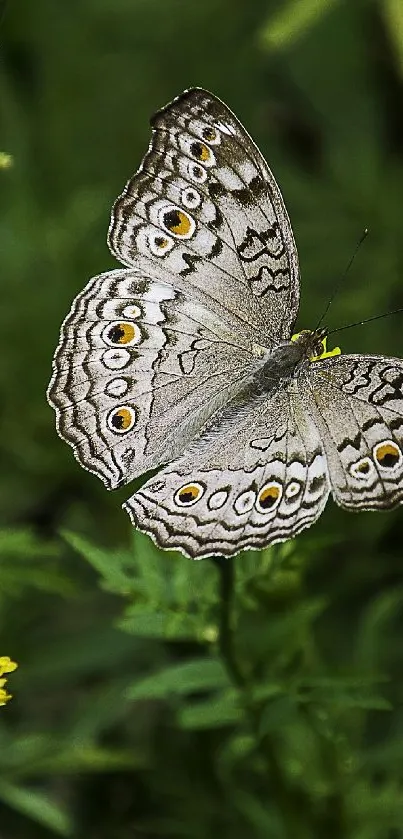
<instances>
[{"instance_id":1,"label":"butterfly's right forewing, cut off by the photo's right edge","mask_svg":"<svg viewBox=\"0 0 403 839\"><path fill-rule=\"evenodd\" d=\"M403 361L340 355L310 366L315 421L335 501L386 510L403 501Z\"/></svg>"}]
</instances>

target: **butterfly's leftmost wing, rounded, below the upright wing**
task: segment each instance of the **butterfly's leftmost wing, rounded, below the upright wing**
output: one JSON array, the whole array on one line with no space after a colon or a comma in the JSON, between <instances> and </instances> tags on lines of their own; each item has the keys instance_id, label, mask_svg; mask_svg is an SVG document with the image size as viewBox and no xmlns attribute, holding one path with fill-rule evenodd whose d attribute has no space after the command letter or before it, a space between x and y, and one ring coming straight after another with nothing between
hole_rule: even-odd
<instances>
[{"instance_id":1,"label":"butterfly's leftmost wing, rounded, below the upright wing","mask_svg":"<svg viewBox=\"0 0 403 839\"><path fill-rule=\"evenodd\" d=\"M181 454L256 353L233 321L172 286L136 269L101 274L61 329L48 389L58 432L112 489Z\"/></svg>"}]
</instances>

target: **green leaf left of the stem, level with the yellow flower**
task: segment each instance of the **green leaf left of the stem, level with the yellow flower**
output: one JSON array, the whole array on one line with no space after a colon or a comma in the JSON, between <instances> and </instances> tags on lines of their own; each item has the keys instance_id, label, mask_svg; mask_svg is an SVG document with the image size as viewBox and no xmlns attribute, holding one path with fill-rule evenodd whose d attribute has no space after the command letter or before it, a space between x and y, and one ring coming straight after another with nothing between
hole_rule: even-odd
<instances>
[{"instance_id":1,"label":"green leaf left of the stem, level with the yellow flower","mask_svg":"<svg viewBox=\"0 0 403 839\"><path fill-rule=\"evenodd\" d=\"M156 699L214 690L228 684L228 675L218 659L198 658L147 676L131 685L126 696L129 699Z\"/></svg>"}]
</instances>

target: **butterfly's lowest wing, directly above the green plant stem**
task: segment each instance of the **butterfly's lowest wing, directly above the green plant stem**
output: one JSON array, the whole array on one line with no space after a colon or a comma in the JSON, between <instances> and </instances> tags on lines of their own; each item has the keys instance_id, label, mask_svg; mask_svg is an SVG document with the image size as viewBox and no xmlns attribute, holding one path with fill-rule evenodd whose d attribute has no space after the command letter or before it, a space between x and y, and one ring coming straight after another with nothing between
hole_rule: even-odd
<instances>
[{"instance_id":1,"label":"butterfly's lowest wing, directly above the green plant stem","mask_svg":"<svg viewBox=\"0 0 403 839\"><path fill-rule=\"evenodd\" d=\"M284 390L219 413L123 506L160 547L202 559L295 536L328 494L318 429Z\"/></svg>"}]
</instances>

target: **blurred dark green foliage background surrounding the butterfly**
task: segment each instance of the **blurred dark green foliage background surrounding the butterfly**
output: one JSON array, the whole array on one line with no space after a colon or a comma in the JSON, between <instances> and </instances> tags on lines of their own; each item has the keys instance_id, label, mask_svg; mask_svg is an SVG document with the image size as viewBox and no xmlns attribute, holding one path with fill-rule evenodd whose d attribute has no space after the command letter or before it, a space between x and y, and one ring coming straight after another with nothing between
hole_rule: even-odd
<instances>
[{"instance_id":1,"label":"blurred dark green foliage background surrounding the butterfly","mask_svg":"<svg viewBox=\"0 0 403 839\"><path fill-rule=\"evenodd\" d=\"M13 0L0 24L1 839L403 837L403 514L162 554L58 439L60 323L152 113L221 97L289 210L299 328L403 306L401 0ZM403 315L341 333L403 355ZM335 336L336 337L336 336ZM339 337L337 336L337 343ZM333 344L331 344L333 346ZM233 608L231 571L236 580Z\"/></svg>"}]
</instances>

